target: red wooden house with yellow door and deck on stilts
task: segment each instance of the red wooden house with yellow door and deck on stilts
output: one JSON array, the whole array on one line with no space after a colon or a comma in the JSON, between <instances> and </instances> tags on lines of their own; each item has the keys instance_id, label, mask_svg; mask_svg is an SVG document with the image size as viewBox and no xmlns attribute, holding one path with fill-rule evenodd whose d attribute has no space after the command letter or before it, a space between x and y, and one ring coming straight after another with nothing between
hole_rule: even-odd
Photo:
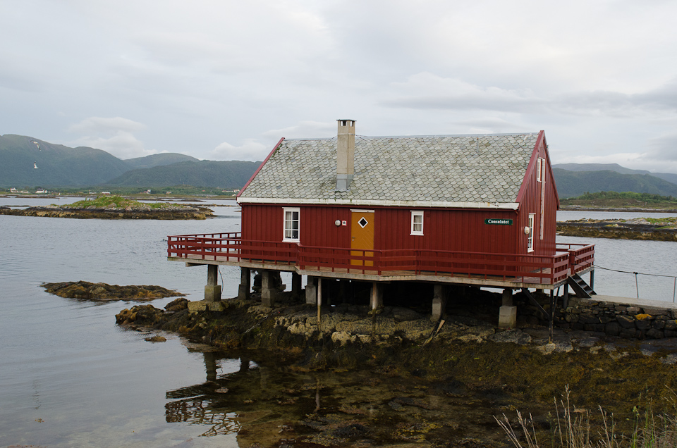
<instances>
[{"instance_id":1,"label":"red wooden house with yellow door and deck on stilts","mask_svg":"<svg viewBox=\"0 0 677 448\"><path fill-rule=\"evenodd\" d=\"M261 273L268 306L284 271L298 294L307 275L305 299L318 306L329 279L368 282L372 308L385 283L429 283L432 318L455 285L502 288L499 325L513 326L513 290L553 297L563 286L566 298L571 285L580 297L591 292L580 275L594 280L594 246L556 242L543 131L362 137L355 120L338 120L337 137L281 139L237 200L241 233L168 237L169 260L209 266L207 303L220 298L224 264L240 266L243 298L251 270Z\"/></svg>"}]
</instances>

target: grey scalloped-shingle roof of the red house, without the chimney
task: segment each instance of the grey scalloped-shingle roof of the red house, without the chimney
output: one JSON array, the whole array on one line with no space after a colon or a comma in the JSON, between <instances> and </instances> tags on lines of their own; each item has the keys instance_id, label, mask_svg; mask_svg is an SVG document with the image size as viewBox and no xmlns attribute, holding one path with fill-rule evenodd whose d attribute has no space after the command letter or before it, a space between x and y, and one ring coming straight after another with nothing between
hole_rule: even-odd
<instances>
[{"instance_id":1,"label":"grey scalloped-shingle roof of the red house, without the chimney","mask_svg":"<svg viewBox=\"0 0 677 448\"><path fill-rule=\"evenodd\" d=\"M516 209L538 133L355 137L355 177L336 191L336 137L283 139L240 203Z\"/></svg>"}]
</instances>

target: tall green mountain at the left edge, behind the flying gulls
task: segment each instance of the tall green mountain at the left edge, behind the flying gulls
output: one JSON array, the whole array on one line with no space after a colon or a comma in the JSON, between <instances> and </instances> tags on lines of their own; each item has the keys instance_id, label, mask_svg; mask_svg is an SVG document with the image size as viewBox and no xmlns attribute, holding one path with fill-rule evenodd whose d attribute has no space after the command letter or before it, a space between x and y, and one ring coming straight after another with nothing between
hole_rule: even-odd
<instances>
[{"instance_id":1,"label":"tall green mountain at the left edge, behind the flying gulls","mask_svg":"<svg viewBox=\"0 0 677 448\"><path fill-rule=\"evenodd\" d=\"M96 185L127 170L127 163L101 149L69 148L23 135L0 137L0 187Z\"/></svg>"}]
</instances>

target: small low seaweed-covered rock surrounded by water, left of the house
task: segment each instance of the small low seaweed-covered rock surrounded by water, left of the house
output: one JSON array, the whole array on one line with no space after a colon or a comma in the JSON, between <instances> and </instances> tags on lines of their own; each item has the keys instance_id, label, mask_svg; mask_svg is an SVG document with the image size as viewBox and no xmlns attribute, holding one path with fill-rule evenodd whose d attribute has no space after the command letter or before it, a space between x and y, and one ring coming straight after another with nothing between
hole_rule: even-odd
<instances>
[{"instance_id":1,"label":"small low seaweed-covered rock surrounded by water, left of the house","mask_svg":"<svg viewBox=\"0 0 677 448\"><path fill-rule=\"evenodd\" d=\"M90 282L59 282L42 283L40 285L49 292L59 297L70 299L85 299L94 301L116 301L116 300L154 300L162 297L183 297L185 294L168 290L155 285L108 285L107 283Z\"/></svg>"}]
</instances>

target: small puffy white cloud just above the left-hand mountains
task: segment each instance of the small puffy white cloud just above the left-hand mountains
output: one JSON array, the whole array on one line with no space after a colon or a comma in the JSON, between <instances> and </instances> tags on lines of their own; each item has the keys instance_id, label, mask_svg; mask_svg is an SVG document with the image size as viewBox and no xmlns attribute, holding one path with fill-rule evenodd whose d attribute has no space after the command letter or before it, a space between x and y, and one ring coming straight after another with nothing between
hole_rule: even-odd
<instances>
[{"instance_id":1,"label":"small puffy white cloud just above the left-hand mountains","mask_svg":"<svg viewBox=\"0 0 677 448\"><path fill-rule=\"evenodd\" d=\"M122 159L148 156L157 151L145 149L134 135L134 132L145 130L145 127L128 118L85 118L68 128L70 132L81 135L69 144L103 149Z\"/></svg>"}]
</instances>

